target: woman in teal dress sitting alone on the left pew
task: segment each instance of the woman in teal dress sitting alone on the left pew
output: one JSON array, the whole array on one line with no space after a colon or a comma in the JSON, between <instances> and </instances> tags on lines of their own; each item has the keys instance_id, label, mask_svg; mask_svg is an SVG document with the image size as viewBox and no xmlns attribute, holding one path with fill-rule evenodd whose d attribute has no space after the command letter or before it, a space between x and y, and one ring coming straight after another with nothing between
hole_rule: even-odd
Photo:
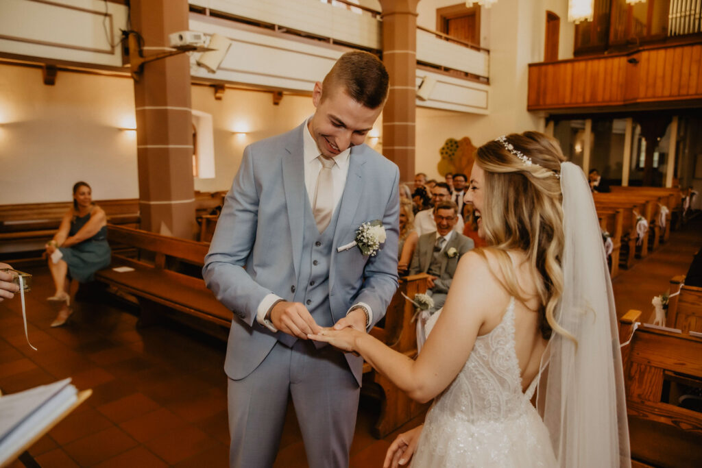
<instances>
[{"instance_id":1,"label":"woman in teal dress sitting alone on the left pew","mask_svg":"<svg viewBox=\"0 0 702 468\"><path fill-rule=\"evenodd\" d=\"M93 203L90 185L77 182L73 186L73 206L70 208L53 239L46 244L48 267L56 293L47 300L62 303L51 326L62 326L73 313L70 280L91 281L93 274L110 265L107 244L107 216Z\"/></svg>"}]
</instances>

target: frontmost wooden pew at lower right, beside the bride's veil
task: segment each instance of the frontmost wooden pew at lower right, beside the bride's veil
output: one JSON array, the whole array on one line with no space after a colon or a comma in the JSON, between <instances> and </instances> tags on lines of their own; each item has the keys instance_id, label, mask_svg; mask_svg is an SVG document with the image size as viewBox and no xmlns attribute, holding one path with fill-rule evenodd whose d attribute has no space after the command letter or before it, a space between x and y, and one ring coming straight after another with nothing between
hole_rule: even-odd
<instances>
[{"instance_id":1,"label":"frontmost wooden pew at lower right, beside the bride's veil","mask_svg":"<svg viewBox=\"0 0 702 468\"><path fill-rule=\"evenodd\" d=\"M620 319L620 340L641 312ZM678 406L686 388L702 388L702 338L638 328L621 349L631 457L656 467L702 466L702 413Z\"/></svg>"}]
</instances>

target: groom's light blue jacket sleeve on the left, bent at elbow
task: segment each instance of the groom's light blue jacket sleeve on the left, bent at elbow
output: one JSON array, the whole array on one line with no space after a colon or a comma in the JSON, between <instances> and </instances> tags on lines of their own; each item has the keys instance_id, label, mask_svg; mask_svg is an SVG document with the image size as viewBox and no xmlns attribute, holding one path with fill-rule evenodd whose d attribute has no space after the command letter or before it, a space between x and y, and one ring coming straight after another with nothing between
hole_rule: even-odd
<instances>
[{"instance_id":1,"label":"groom's light blue jacket sleeve on the left, bent at elbow","mask_svg":"<svg viewBox=\"0 0 702 468\"><path fill-rule=\"evenodd\" d=\"M251 326L263 298L272 291L253 281L244 270L256 242L259 192L251 147L225 198L217 228L205 257L202 276L217 299Z\"/></svg>"}]
</instances>

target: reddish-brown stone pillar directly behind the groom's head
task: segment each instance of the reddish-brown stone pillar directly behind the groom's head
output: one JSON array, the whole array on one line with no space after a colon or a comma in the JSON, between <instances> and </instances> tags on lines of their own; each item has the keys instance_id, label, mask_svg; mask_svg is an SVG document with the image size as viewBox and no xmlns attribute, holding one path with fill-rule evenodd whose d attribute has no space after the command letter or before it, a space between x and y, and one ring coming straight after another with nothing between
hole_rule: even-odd
<instances>
[{"instance_id":1,"label":"reddish-brown stone pillar directly behind the groom's head","mask_svg":"<svg viewBox=\"0 0 702 468\"><path fill-rule=\"evenodd\" d=\"M418 2L380 0L383 62L390 74L390 95L383 110L383 154L399 166L403 182L414 180Z\"/></svg>"}]
</instances>

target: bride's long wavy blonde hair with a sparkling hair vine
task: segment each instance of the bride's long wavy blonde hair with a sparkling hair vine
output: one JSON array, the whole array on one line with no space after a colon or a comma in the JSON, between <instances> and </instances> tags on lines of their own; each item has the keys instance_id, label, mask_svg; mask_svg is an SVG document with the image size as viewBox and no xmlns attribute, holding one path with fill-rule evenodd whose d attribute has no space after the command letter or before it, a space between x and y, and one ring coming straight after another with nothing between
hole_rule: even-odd
<instances>
[{"instance_id":1,"label":"bride's long wavy blonde hair with a sparkling hair vine","mask_svg":"<svg viewBox=\"0 0 702 468\"><path fill-rule=\"evenodd\" d=\"M509 147L511 145L511 148ZM531 158L531 163L526 160ZM558 142L538 132L512 133L477 149L475 163L485 171L481 211L485 239L496 254L510 295L522 297L508 250L523 250L536 279L541 305L541 335L570 337L556 323L554 311L563 291L564 247L560 168L565 158ZM486 258L482 249L475 250Z\"/></svg>"}]
</instances>

